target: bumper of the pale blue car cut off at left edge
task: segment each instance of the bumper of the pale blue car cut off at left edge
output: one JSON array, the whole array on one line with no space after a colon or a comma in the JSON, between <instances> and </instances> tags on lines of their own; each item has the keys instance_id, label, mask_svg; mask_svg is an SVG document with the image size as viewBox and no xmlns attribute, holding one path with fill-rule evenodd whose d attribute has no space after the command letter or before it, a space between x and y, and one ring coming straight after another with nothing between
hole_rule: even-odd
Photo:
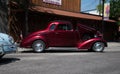
<instances>
[{"instance_id":1,"label":"bumper of the pale blue car cut off at left edge","mask_svg":"<svg viewBox=\"0 0 120 74\"><path fill-rule=\"evenodd\" d=\"M16 50L17 50L16 44L0 45L0 55L16 52Z\"/></svg>"}]
</instances>

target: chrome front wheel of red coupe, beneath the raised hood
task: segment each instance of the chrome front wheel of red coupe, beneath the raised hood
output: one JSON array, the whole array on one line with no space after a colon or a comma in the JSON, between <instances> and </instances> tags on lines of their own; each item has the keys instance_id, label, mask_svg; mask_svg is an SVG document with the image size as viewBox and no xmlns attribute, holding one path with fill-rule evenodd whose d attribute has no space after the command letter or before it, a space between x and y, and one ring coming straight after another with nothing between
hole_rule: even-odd
<instances>
[{"instance_id":1,"label":"chrome front wheel of red coupe, beneath the raised hood","mask_svg":"<svg viewBox=\"0 0 120 74\"><path fill-rule=\"evenodd\" d=\"M103 42L95 42L92 46L92 51L94 52L103 52L105 45Z\"/></svg>"}]
</instances>

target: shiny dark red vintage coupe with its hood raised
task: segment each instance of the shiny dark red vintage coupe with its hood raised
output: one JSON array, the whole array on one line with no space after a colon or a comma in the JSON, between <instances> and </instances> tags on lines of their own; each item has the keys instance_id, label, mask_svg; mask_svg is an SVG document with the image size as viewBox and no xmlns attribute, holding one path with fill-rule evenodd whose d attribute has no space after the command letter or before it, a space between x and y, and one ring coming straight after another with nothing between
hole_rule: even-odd
<instances>
[{"instance_id":1,"label":"shiny dark red vintage coupe with its hood raised","mask_svg":"<svg viewBox=\"0 0 120 74\"><path fill-rule=\"evenodd\" d=\"M46 29L28 35L20 46L32 47L35 52L43 52L48 47L77 47L102 52L107 43L93 28L68 21L52 21Z\"/></svg>"}]
</instances>

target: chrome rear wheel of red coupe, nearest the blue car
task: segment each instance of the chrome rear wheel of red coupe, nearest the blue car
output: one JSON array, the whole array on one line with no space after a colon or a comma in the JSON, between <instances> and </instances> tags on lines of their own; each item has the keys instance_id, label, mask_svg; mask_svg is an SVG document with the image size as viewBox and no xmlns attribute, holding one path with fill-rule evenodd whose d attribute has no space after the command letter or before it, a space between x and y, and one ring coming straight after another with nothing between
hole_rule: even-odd
<instances>
[{"instance_id":1,"label":"chrome rear wheel of red coupe, nearest the blue car","mask_svg":"<svg viewBox=\"0 0 120 74\"><path fill-rule=\"evenodd\" d=\"M45 43L42 40L33 42L32 48L35 52L40 53L45 50Z\"/></svg>"}]
</instances>

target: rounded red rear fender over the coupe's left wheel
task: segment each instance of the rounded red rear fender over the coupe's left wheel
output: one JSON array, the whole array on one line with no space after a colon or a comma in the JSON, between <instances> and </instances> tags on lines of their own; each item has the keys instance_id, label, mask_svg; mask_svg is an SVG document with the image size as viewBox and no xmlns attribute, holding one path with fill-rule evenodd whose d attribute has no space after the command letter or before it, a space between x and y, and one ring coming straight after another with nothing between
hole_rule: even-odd
<instances>
[{"instance_id":1,"label":"rounded red rear fender over the coupe's left wheel","mask_svg":"<svg viewBox=\"0 0 120 74\"><path fill-rule=\"evenodd\" d=\"M33 37L25 38L24 40L22 40L20 46L21 47L31 47L33 42L36 40L42 40L46 43L46 39L43 36L33 36Z\"/></svg>"}]
</instances>

